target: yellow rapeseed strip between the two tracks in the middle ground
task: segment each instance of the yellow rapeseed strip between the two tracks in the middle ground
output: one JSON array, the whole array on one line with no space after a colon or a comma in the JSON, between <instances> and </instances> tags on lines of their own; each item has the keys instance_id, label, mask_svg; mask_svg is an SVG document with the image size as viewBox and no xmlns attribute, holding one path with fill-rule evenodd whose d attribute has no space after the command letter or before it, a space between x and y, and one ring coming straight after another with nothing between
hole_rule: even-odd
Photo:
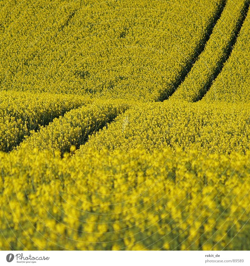
<instances>
[{"instance_id":1,"label":"yellow rapeseed strip between the two tracks in the middle ground","mask_svg":"<svg viewBox=\"0 0 250 266\"><path fill-rule=\"evenodd\" d=\"M88 140L89 135L102 129L133 104L133 101L127 100L99 99L97 102L71 110L64 116L55 118L48 126L41 127L37 132L33 131L21 146L29 150L34 148L60 150L62 154L66 151L69 152L72 145L78 149Z\"/></svg>"}]
</instances>

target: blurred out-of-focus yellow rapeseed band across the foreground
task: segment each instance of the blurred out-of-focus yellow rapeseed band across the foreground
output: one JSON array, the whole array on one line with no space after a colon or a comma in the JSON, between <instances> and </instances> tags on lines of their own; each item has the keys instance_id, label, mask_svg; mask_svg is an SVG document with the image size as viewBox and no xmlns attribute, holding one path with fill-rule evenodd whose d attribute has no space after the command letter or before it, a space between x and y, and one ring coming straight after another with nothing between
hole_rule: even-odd
<instances>
[{"instance_id":1,"label":"blurred out-of-focus yellow rapeseed band across the foreground","mask_svg":"<svg viewBox=\"0 0 250 266\"><path fill-rule=\"evenodd\" d=\"M107 152L1 152L0 249L249 250L249 152Z\"/></svg>"}]
</instances>

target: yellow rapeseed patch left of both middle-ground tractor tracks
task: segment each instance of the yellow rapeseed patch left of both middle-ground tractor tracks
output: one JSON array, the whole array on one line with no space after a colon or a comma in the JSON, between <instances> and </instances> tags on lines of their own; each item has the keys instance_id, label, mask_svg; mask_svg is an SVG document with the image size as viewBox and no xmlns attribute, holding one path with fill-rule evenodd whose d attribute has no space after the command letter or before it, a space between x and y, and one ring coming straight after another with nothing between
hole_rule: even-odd
<instances>
[{"instance_id":1,"label":"yellow rapeseed patch left of both middle-ground tractor tracks","mask_svg":"<svg viewBox=\"0 0 250 266\"><path fill-rule=\"evenodd\" d=\"M88 96L1 91L0 150L12 150L31 130L37 131L55 117L91 101Z\"/></svg>"}]
</instances>

